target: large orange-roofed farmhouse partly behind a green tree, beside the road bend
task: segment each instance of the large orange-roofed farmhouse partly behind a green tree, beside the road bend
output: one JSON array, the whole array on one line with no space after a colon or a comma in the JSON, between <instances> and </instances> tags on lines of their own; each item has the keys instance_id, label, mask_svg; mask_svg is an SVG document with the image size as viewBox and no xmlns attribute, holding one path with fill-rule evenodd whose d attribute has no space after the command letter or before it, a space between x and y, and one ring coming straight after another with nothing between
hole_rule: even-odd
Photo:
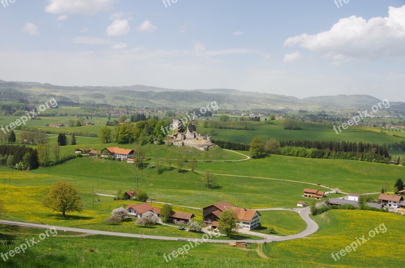
<instances>
[{"instance_id":1,"label":"large orange-roofed farmhouse partly behind a green tree, beside the road bend","mask_svg":"<svg viewBox=\"0 0 405 268\"><path fill-rule=\"evenodd\" d=\"M236 225L239 228L254 229L259 226L260 213L255 209L233 207L226 201L203 208L203 222L206 225L216 227L223 211L232 210L236 215Z\"/></svg>"}]
</instances>

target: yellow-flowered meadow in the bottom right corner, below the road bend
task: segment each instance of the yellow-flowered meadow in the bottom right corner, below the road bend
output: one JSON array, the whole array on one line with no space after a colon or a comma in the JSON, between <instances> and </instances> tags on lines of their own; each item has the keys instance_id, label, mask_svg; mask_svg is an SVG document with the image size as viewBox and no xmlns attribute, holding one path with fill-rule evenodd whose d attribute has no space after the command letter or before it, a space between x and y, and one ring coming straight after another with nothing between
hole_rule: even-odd
<instances>
[{"instance_id":1,"label":"yellow-flowered meadow in the bottom right corner, below the road bend","mask_svg":"<svg viewBox=\"0 0 405 268\"><path fill-rule=\"evenodd\" d=\"M268 252L279 261L299 256L302 261L316 260L323 267L402 267L400 254L389 254L383 249L389 249L398 243L405 228L403 216L392 213L371 212L360 210L331 210L314 217L319 225L319 231L307 239L292 240L280 243L266 244ZM380 234L369 237L369 232L384 224L379 229ZM356 251L347 253L337 261L332 257L356 238L365 235L365 243L360 241ZM373 235L373 234L372 234ZM370 238L370 240L368 239Z\"/></svg>"}]
</instances>

